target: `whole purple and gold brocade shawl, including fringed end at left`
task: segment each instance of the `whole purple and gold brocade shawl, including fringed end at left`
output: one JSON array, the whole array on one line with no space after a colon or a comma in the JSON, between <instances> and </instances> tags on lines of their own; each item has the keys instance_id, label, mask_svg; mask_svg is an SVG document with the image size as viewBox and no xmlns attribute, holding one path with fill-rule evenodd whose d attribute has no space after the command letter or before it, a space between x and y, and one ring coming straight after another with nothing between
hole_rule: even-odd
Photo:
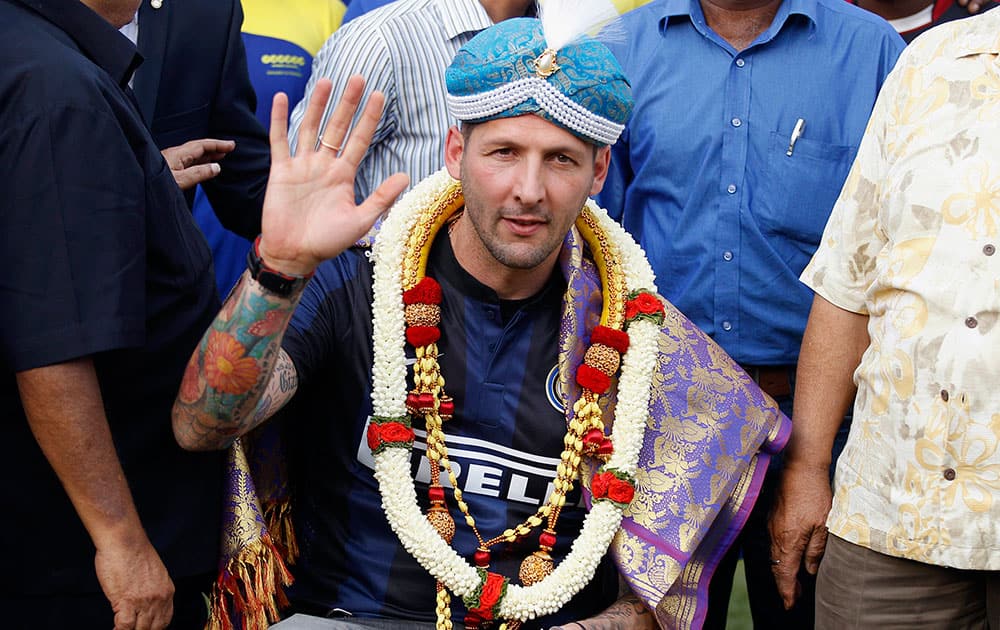
<instances>
[{"instance_id":1,"label":"whole purple and gold brocade shawl, including fringed end at left","mask_svg":"<svg viewBox=\"0 0 1000 630\"><path fill-rule=\"evenodd\" d=\"M567 420L573 413L569 401L580 395L574 375L602 304L600 278L584 249L574 229L560 256L567 291L559 373ZM768 461L784 446L791 423L722 348L673 305L665 307L636 495L611 553L661 627L698 628L712 573L746 522ZM602 401L609 427L613 398ZM273 438L271 432L254 440L260 446L249 460L241 443L232 449L213 630L232 627L230 615L237 627L263 630L283 603L288 575L276 556L294 557L287 553L294 550L294 537ZM596 469L592 465L582 475L585 486Z\"/></svg>"}]
</instances>

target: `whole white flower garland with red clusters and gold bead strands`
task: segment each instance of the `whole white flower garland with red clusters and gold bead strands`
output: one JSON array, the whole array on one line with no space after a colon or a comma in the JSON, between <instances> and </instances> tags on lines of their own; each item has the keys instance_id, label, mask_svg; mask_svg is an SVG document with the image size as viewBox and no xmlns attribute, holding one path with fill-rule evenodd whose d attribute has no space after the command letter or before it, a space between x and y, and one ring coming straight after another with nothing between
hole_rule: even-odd
<instances>
[{"instance_id":1,"label":"whole white flower garland with red clusters and gold bead strands","mask_svg":"<svg viewBox=\"0 0 1000 630\"><path fill-rule=\"evenodd\" d=\"M419 346L418 362L430 349L434 355L430 358L436 365L437 337L433 330L428 330L434 329L433 309L421 308L416 318L423 325L411 323L409 327L406 309L411 304L420 307L434 304L433 287L427 283L419 288L417 285L424 279L434 235L462 205L459 183L441 170L404 196L380 228L373 250L372 426L376 428L369 430L369 445L375 457L382 507L403 547L439 583L463 598L470 611L489 618L525 621L554 613L579 592L593 577L618 530L622 512L632 498L632 492L623 484L634 492L632 479L648 417L663 307L651 295L656 291L654 276L642 250L621 226L588 201L577 220L577 228L590 244L601 272L605 301L601 326L595 329L595 338L577 374L584 394L574 405L575 417L567 433L571 455L567 462L564 451L559 474L571 482L578 474L580 453L585 450L605 460L592 481L595 501L569 554L540 581L530 586L511 585L506 578L470 565L450 546L450 537L429 520L434 515L421 513L410 473L409 447L413 434L409 412L414 408L427 410L429 426L430 418L437 418L440 423L440 416L450 415L451 408L440 408L450 401L436 400L444 380L432 372L427 382L417 385L434 393L408 393L405 365L408 337ZM419 295L415 296L414 291ZM411 310L411 322L414 317ZM626 327L627 334L623 330ZM611 377L619 367L618 354L622 355L618 404L613 434L608 438L600 424L597 398L610 386ZM428 395L430 398L424 397ZM461 507L458 492L456 499ZM559 507L561 503L556 509ZM551 506L546 506L539 514L548 514L547 508L551 510ZM471 521L467 513L466 518ZM536 525L539 521L532 517L527 524ZM508 530L504 535L516 537L522 533ZM542 534L543 549L550 540L546 535L547 532ZM554 542L554 536L551 540ZM489 597L484 598L484 592ZM442 610L447 611L441 595L439 616ZM450 621L443 625L449 626Z\"/></svg>"}]
</instances>

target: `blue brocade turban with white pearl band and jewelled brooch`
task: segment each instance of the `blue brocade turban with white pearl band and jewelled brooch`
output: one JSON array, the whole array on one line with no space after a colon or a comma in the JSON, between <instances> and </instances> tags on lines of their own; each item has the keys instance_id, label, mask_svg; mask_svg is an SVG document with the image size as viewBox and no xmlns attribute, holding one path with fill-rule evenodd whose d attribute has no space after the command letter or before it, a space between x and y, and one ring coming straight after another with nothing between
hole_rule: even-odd
<instances>
[{"instance_id":1,"label":"blue brocade turban with white pearl band and jewelled brooch","mask_svg":"<svg viewBox=\"0 0 1000 630\"><path fill-rule=\"evenodd\" d=\"M632 112L632 88L604 44L580 35L554 49L534 18L473 37L445 80L448 108L463 122L535 114L598 146L614 144Z\"/></svg>"}]
</instances>

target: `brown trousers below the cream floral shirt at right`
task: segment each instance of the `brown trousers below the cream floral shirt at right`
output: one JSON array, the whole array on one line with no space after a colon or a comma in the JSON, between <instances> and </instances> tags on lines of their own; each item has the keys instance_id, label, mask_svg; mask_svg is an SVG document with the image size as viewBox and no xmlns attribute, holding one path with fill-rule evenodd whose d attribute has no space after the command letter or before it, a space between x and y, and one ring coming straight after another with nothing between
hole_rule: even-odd
<instances>
[{"instance_id":1,"label":"brown trousers below the cream floral shirt at right","mask_svg":"<svg viewBox=\"0 0 1000 630\"><path fill-rule=\"evenodd\" d=\"M887 556L830 535L816 580L817 630L1000 630L1000 571Z\"/></svg>"}]
</instances>

